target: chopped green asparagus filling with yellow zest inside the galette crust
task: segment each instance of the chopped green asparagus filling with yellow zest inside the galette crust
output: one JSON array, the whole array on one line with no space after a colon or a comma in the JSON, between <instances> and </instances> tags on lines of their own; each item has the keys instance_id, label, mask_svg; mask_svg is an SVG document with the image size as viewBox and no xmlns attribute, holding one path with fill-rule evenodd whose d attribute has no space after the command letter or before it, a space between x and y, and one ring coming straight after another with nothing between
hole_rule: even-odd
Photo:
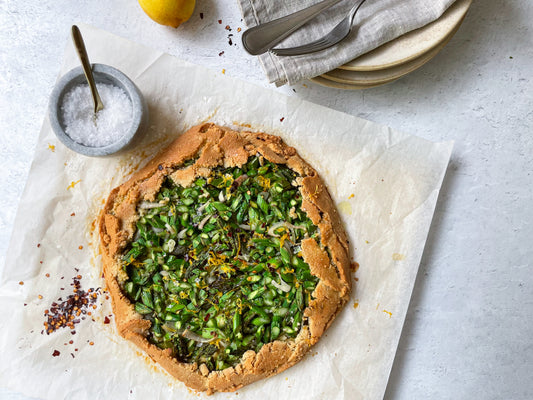
<instances>
[{"instance_id":1,"label":"chopped green asparagus filling with yellow zest inside the galette crust","mask_svg":"<svg viewBox=\"0 0 533 400\"><path fill-rule=\"evenodd\" d=\"M295 178L253 157L187 188L167 179L156 202L139 204L123 290L151 321L151 343L221 370L296 337L318 282L301 241L318 231Z\"/></svg>"}]
</instances>

